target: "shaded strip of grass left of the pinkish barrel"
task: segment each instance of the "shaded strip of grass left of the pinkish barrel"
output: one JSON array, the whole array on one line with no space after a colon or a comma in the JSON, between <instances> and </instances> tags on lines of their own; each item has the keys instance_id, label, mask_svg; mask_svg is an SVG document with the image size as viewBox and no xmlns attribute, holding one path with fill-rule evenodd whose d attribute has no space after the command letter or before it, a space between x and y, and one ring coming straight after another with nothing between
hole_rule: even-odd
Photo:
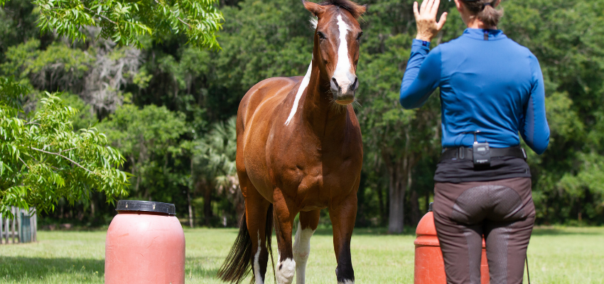
<instances>
[{"instance_id":1,"label":"shaded strip of grass left of the pinkish barrel","mask_svg":"<svg viewBox=\"0 0 604 284\"><path fill-rule=\"evenodd\" d=\"M47 278L53 274L104 273L102 259L87 258L36 258L22 256L0 257L0 277L26 283L27 280Z\"/></svg>"}]
</instances>

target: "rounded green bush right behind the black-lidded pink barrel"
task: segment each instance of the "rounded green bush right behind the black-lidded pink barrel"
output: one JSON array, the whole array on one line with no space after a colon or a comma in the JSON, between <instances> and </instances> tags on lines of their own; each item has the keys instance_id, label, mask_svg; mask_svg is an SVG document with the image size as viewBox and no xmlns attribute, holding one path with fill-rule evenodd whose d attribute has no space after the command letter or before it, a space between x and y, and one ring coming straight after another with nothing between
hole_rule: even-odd
<instances>
[{"instance_id":1,"label":"rounded green bush right behind the black-lidded pink barrel","mask_svg":"<svg viewBox=\"0 0 604 284\"><path fill-rule=\"evenodd\" d=\"M186 131L183 114L155 105L139 109L124 104L99 129L126 158L136 197L159 198L171 187L188 185L188 180L174 172L173 164L179 162L173 159L182 151L178 138Z\"/></svg>"}]
</instances>

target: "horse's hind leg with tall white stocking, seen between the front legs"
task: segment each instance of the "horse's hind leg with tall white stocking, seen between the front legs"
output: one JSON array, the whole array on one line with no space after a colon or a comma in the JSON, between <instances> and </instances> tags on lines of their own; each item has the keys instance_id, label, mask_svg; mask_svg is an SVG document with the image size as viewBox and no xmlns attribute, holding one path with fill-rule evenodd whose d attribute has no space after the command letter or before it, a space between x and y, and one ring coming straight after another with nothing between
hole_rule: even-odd
<instances>
[{"instance_id":1,"label":"horse's hind leg with tall white stocking, seen between the front legs","mask_svg":"<svg viewBox=\"0 0 604 284\"><path fill-rule=\"evenodd\" d=\"M293 241L293 260L296 261L296 284L304 284L306 261L311 253L311 236L319 224L320 210L300 212L298 230Z\"/></svg>"}]
</instances>

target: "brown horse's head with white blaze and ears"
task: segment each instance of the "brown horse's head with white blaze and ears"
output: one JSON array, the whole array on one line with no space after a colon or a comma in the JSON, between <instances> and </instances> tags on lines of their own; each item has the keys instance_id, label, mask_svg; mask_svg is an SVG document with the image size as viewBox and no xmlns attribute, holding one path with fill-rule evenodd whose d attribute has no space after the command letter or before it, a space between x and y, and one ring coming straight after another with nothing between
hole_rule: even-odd
<instances>
[{"instance_id":1,"label":"brown horse's head with white blaze and ears","mask_svg":"<svg viewBox=\"0 0 604 284\"><path fill-rule=\"evenodd\" d=\"M355 100L359 87L357 62L363 34L357 18L367 6L348 0L328 0L321 4L302 0L304 7L316 17L315 48L323 80L330 82L333 99L338 104Z\"/></svg>"}]
</instances>

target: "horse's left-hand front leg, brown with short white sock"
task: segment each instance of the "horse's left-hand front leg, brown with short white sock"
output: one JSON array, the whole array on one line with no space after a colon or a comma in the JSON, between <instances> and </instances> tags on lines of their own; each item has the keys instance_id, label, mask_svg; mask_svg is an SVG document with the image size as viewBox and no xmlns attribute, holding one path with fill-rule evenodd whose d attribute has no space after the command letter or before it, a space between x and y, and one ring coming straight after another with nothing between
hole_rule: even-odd
<instances>
[{"instance_id":1,"label":"horse's left-hand front leg, brown with short white sock","mask_svg":"<svg viewBox=\"0 0 604 284\"><path fill-rule=\"evenodd\" d=\"M290 212L292 204L284 197L281 190L274 190L274 221L277 246L279 247L279 263L275 268L275 278L278 284L290 284L293 282L293 274L296 272L296 261L293 260L291 248L291 230L293 218L298 212Z\"/></svg>"}]
</instances>

